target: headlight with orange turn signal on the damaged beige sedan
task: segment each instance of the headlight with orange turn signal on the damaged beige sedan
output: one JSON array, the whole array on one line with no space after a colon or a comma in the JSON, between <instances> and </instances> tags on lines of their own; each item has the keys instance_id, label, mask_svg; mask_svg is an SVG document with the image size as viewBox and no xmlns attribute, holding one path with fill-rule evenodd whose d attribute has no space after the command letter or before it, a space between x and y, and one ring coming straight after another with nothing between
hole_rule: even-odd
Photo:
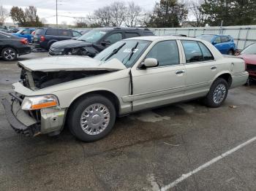
<instances>
[{"instance_id":1,"label":"headlight with orange turn signal on the damaged beige sedan","mask_svg":"<svg viewBox=\"0 0 256 191\"><path fill-rule=\"evenodd\" d=\"M55 95L39 95L25 97L21 104L23 110L35 110L59 106L58 98Z\"/></svg>"}]
</instances>

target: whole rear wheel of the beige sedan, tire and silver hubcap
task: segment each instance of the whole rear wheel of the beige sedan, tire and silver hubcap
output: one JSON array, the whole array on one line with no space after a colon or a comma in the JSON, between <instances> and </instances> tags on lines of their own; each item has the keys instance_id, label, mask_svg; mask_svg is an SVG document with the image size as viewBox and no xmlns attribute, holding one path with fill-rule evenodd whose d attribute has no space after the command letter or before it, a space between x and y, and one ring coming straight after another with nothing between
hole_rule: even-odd
<instances>
[{"instance_id":1,"label":"whole rear wheel of the beige sedan, tire and silver hubcap","mask_svg":"<svg viewBox=\"0 0 256 191\"><path fill-rule=\"evenodd\" d=\"M219 107L227 98L228 85L227 81L222 78L217 78L211 85L211 88L204 99L206 106Z\"/></svg>"}]
</instances>

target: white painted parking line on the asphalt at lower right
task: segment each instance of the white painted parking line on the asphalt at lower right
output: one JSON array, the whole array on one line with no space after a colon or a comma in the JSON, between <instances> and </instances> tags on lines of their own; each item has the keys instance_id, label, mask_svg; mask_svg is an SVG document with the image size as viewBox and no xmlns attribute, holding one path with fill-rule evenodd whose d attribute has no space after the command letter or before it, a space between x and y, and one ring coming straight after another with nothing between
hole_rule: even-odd
<instances>
[{"instance_id":1,"label":"white painted parking line on the asphalt at lower right","mask_svg":"<svg viewBox=\"0 0 256 191\"><path fill-rule=\"evenodd\" d=\"M222 155L219 155L218 157L215 157L214 159L208 161L207 163L200 165L200 167L196 168L193 171L190 171L188 174L183 174L181 177L176 179L174 182L171 182L170 184L167 184L165 187L161 188L161 191L168 190L172 187L175 187L178 183L184 181L185 179L189 178L189 176L192 176L192 174L196 174L198 171L203 170L204 168L207 168L209 165L212 165L216 163L218 160L221 160L223 157L227 157L228 155L232 154L233 152L236 152L238 149L243 148L247 144L252 143L253 141L256 141L256 136L252 139L249 139L248 141L244 142L243 144L239 144L237 147L230 149L229 151L223 153Z\"/></svg>"}]
</instances>

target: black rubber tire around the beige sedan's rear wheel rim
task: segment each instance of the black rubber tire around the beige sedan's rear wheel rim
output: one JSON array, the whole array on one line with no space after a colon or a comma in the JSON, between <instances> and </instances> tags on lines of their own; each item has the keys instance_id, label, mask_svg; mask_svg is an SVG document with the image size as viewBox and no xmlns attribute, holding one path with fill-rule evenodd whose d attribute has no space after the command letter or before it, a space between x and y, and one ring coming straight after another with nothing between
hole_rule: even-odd
<instances>
[{"instance_id":1,"label":"black rubber tire around the beige sedan's rear wheel rim","mask_svg":"<svg viewBox=\"0 0 256 191\"><path fill-rule=\"evenodd\" d=\"M217 89L217 87L219 87L219 85L225 86L225 93L222 94L222 95L224 95L224 98L222 97L222 101L220 101L218 103L218 102L214 101L214 91ZM206 104L206 106L208 106L208 107L217 108L223 104L223 102L227 98L227 93L228 93L227 81L223 78L217 78L214 81L214 83L211 85L211 88L210 88L208 94L206 95L206 98L204 98L204 104Z\"/></svg>"}]
</instances>

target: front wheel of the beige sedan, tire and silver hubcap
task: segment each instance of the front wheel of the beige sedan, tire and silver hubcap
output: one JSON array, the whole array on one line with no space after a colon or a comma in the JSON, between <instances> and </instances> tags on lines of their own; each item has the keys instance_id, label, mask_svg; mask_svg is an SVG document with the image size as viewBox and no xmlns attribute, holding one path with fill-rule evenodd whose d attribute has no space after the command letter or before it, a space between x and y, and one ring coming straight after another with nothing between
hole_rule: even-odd
<instances>
[{"instance_id":1,"label":"front wheel of the beige sedan, tire and silver hubcap","mask_svg":"<svg viewBox=\"0 0 256 191\"><path fill-rule=\"evenodd\" d=\"M67 118L70 132L82 141L97 141L107 136L116 121L113 103L102 95L78 100Z\"/></svg>"}]
</instances>

